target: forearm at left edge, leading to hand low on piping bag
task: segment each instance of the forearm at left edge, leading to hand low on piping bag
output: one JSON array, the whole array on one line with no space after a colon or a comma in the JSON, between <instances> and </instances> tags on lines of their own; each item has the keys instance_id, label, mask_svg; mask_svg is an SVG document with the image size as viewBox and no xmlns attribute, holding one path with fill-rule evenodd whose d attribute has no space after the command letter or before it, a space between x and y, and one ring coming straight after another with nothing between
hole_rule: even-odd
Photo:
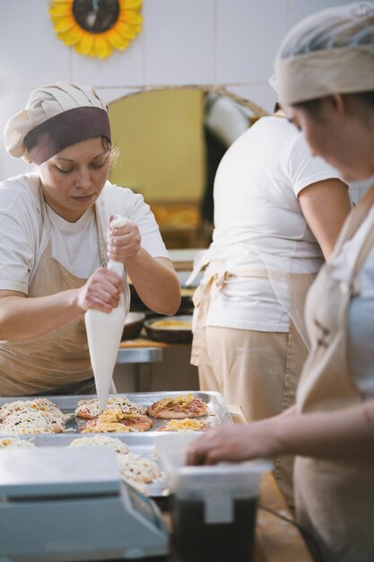
<instances>
[{"instance_id":1,"label":"forearm at left edge, leading to hand low on piping bag","mask_svg":"<svg viewBox=\"0 0 374 562\"><path fill-rule=\"evenodd\" d=\"M0 299L0 339L36 338L82 313L74 289L36 298L6 296Z\"/></svg>"}]
</instances>

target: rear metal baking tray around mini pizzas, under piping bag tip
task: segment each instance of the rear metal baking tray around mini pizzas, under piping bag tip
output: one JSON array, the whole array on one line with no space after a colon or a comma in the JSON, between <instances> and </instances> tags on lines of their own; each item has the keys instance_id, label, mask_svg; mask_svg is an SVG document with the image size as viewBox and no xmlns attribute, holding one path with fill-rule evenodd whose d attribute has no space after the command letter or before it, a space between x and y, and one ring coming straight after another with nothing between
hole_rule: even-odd
<instances>
[{"instance_id":1,"label":"rear metal baking tray around mini pizzas, under piping bag tip","mask_svg":"<svg viewBox=\"0 0 374 562\"><path fill-rule=\"evenodd\" d=\"M157 400L161 400L163 398L170 398L171 396L177 396L178 394L193 394L201 400L204 400L206 403L209 413L205 418L206 423L210 426L219 426L222 424L232 424L232 419L230 417L229 409L227 408L225 402L222 399L222 395L220 392L213 392L213 391L160 391L160 392L128 392L126 394L110 394L109 396L113 397L125 397L135 402L135 404L140 404L146 408L151 406L153 402ZM6 397L0 398L0 407L4 406L4 404L8 404L9 402L14 402L16 400L35 400L39 398L38 396L19 396L19 397ZM54 404L58 406L65 414L67 413L74 413L75 408L78 406L79 400L91 400L95 398L94 394L74 394L68 396L44 396L42 398L47 398ZM152 429L146 432L131 432L131 433L110 433L110 434L103 434L103 435L112 435L113 437L117 437L118 435L126 435L130 439L133 436L145 436L145 435L155 435L157 434L158 428L163 426L167 421L165 419L159 419L152 417L153 421ZM45 435L48 438L57 439L62 437L66 433L68 434L80 434L83 427L85 426L87 420L80 419L79 417L72 417L69 419L65 424L65 432L63 434L57 435ZM196 432L197 433L197 432ZM90 434L83 434L85 436L95 435L93 433ZM4 436L4 435L3 435ZM15 436L15 435L13 435ZM127 443L127 441L126 441Z\"/></svg>"}]
</instances>

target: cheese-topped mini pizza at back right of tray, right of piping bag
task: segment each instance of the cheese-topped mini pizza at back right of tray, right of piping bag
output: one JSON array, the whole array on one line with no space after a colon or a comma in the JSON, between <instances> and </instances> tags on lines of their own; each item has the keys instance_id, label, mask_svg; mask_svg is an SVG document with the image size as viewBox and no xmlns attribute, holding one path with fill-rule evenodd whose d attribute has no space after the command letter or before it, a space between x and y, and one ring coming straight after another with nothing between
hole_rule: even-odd
<instances>
[{"instance_id":1,"label":"cheese-topped mini pizza at back right of tray, right of piping bag","mask_svg":"<svg viewBox=\"0 0 374 562\"><path fill-rule=\"evenodd\" d=\"M204 400L193 394L178 394L154 402L146 412L152 417L183 419L184 417L207 416L208 407Z\"/></svg>"}]
</instances>

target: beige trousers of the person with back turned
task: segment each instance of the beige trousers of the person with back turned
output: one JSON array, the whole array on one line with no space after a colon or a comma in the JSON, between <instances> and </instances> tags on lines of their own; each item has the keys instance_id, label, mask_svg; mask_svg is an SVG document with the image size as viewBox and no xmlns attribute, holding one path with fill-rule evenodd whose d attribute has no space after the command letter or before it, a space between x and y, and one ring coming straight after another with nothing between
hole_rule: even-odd
<instances>
[{"instance_id":1,"label":"beige trousers of the person with back turned","mask_svg":"<svg viewBox=\"0 0 374 562\"><path fill-rule=\"evenodd\" d=\"M239 404L248 422L273 417L290 408L308 355L298 331L289 333L207 327L198 365L202 391L222 393L226 404ZM293 502L293 457L274 460L274 476Z\"/></svg>"}]
</instances>

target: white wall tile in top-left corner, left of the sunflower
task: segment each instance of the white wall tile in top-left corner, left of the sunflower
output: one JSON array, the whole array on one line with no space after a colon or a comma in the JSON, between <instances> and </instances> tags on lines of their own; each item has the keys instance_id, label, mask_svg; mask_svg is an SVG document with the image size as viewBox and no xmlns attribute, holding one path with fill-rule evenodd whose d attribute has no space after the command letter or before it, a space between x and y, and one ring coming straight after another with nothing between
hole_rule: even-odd
<instances>
[{"instance_id":1,"label":"white wall tile in top-left corner, left of the sunflower","mask_svg":"<svg viewBox=\"0 0 374 562\"><path fill-rule=\"evenodd\" d=\"M0 74L14 87L68 80L69 48L57 39L47 0L2 2Z\"/></svg>"}]
</instances>

